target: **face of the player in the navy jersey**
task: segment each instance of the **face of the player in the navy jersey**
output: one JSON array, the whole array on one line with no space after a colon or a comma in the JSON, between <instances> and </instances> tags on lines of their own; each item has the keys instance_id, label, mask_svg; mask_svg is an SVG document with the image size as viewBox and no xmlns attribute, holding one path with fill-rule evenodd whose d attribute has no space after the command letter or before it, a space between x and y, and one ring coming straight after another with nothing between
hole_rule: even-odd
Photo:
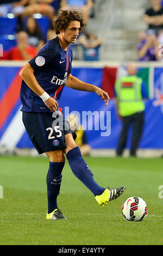
<instances>
[{"instance_id":1,"label":"face of the player in the navy jersey","mask_svg":"<svg viewBox=\"0 0 163 256\"><path fill-rule=\"evenodd\" d=\"M80 22L71 21L70 25L64 31L64 38L67 42L74 44L80 32Z\"/></svg>"}]
</instances>

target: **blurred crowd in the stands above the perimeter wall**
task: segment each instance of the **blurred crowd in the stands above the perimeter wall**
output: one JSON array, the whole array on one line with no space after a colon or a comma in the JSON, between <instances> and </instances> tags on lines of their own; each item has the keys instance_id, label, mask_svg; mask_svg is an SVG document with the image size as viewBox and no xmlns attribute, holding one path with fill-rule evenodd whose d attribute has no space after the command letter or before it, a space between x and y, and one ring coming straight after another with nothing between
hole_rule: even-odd
<instances>
[{"instance_id":1,"label":"blurred crowd in the stands above the perimeter wall","mask_svg":"<svg viewBox=\"0 0 163 256\"><path fill-rule=\"evenodd\" d=\"M6 0L0 2L2 60L28 60L55 37L60 10L83 14L86 28L76 45L76 60L162 61L162 0Z\"/></svg>"}]
</instances>

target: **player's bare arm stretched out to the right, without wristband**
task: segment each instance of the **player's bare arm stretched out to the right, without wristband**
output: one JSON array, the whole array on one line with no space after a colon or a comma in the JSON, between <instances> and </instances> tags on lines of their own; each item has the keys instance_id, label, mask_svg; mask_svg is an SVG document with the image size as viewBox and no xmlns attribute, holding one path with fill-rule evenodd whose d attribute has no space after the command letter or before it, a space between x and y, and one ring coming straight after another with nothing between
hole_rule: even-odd
<instances>
[{"instance_id":1,"label":"player's bare arm stretched out to the right, without wristband","mask_svg":"<svg viewBox=\"0 0 163 256\"><path fill-rule=\"evenodd\" d=\"M105 101L105 106L108 106L108 101L110 99L108 93L97 86L93 86L93 84L85 83L70 74L68 75L65 86L75 90L96 93L99 97L101 97L102 100Z\"/></svg>"}]
</instances>

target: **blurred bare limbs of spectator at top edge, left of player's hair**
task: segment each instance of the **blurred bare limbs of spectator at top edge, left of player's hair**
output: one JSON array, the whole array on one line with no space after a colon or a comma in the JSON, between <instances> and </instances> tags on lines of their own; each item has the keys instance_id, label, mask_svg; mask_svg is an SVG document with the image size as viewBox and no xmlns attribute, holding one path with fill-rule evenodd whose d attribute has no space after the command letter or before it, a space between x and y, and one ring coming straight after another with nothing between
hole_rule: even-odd
<instances>
[{"instance_id":1,"label":"blurred bare limbs of spectator at top edge, left of player's hair","mask_svg":"<svg viewBox=\"0 0 163 256\"><path fill-rule=\"evenodd\" d=\"M54 0L28 0L29 5L24 9L23 17L30 16L31 14L40 13L52 19L55 10L51 3Z\"/></svg>"}]
</instances>

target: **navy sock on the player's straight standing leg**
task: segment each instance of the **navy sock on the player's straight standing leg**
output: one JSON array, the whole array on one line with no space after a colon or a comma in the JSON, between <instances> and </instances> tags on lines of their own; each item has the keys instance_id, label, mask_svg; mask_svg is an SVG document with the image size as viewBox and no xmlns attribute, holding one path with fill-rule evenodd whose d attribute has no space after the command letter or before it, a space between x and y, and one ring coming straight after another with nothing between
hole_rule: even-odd
<instances>
[{"instance_id":1,"label":"navy sock on the player's straight standing leg","mask_svg":"<svg viewBox=\"0 0 163 256\"><path fill-rule=\"evenodd\" d=\"M47 173L47 196L48 196L48 214L54 209L58 209L57 196L59 195L62 180L62 169L65 162L49 162L49 170Z\"/></svg>"}]
</instances>

